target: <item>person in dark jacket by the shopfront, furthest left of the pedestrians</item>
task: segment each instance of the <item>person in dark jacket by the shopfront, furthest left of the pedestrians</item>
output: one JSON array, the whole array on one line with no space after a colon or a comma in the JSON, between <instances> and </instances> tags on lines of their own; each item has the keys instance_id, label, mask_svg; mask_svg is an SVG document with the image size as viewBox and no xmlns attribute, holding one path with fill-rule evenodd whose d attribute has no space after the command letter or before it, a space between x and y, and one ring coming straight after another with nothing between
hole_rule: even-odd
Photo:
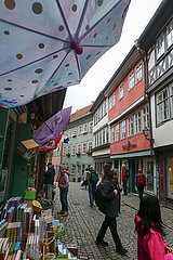
<instances>
[{"instance_id":1,"label":"person in dark jacket by the shopfront, furthest left of the pedestrians","mask_svg":"<svg viewBox=\"0 0 173 260\"><path fill-rule=\"evenodd\" d=\"M52 188L54 183L55 169L52 162L48 162L48 170L44 172L44 185L45 197L52 199Z\"/></svg>"}]
</instances>

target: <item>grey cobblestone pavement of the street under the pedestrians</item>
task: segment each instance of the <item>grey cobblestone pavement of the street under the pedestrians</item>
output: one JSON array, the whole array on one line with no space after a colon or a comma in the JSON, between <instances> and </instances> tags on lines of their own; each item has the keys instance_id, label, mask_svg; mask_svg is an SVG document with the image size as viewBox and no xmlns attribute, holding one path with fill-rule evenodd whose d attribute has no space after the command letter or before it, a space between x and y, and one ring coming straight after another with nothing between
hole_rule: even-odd
<instances>
[{"instance_id":1,"label":"grey cobblestone pavement of the street under the pedestrians","mask_svg":"<svg viewBox=\"0 0 173 260\"><path fill-rule=\"evenodd\" d=\"M58 194L58 190L57 190ZM109 243L108 247L97 247L95 238L104 220L104 214L99 212L96 206L89 206L89 191L81 188L80 183L71 182L68 193L69 216L61 221L65 224L66 234L61 237L61 242L77 245L79 249L78 259L80 260L136 260L137 242L134 232L134 217L138 209L139 199L134 194L122 196L121 214L117 219L118 233L122 245L128 249L128 257L116 253L115 243L110 231L108 230L105 240ZM61 210L58 195L55 199L54 216L59 218L57 211ZM162 209L163 222L167 224L165 243L173 247L173 211Z\"/></svg>"}]
</instances>

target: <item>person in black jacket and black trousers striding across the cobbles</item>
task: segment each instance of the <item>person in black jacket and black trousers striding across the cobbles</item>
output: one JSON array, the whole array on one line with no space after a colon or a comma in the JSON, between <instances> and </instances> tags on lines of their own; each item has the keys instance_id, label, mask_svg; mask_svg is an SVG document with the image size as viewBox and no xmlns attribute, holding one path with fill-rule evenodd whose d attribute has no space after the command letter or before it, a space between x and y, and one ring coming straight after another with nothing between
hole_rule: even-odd
<instances>
[{"instance_id":1,"label":"person in black jacket and black trousers striding across the cobbles","mask_svg":"<svg viewBox=\"0 0 173 260\"><path fill-rule=\"evenodd\" d=\"M103 198L107 200L107 206L102 209L102 212L105 214L105 220L101 226L95 243L96 245L108 246L108 243L104 240L104 237L107 229L109 227L116 244L116 251L121 256L125 256L128 250L123 248L117 232L116 218L120 212L120 192L122 191L122 186L119 184L118 178L119 170L111 169L101 190Z\"/></svg>"}]
</instances>

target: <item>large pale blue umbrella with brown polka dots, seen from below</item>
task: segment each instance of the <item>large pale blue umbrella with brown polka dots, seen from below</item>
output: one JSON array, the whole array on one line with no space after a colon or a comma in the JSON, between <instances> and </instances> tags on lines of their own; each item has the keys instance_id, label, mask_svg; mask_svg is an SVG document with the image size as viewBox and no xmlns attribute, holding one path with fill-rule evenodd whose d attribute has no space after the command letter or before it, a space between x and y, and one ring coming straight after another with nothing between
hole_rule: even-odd
<instances>
[{"instance_id":1,"label":"large pale blue umbrella with brown polka dots, seen from below","mask_svg":"<svg viewBox=\"0 0 173 260\"><path fill-rule=\"evenodd\" d=\"M79 83L119 41L130 1L0 1L0 105Z\"/></svg>"}]
</instances>

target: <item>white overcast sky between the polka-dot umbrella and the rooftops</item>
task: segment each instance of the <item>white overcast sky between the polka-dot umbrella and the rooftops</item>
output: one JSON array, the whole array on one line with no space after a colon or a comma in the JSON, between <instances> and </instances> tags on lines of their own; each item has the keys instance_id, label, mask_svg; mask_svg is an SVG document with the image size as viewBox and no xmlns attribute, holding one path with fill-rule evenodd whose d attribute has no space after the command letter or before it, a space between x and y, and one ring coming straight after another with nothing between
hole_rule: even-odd
<instances>
[{"instance_id":1,"label":"white overcast sky between the polka-dot umbrella and the rooftops","mask_svg":"<svg viewBox=\"0 0 173 260\"><path fill-rule=\"evenodd\" d=\"M122 29L120 41L106 52L86 73L80 84L67 88L64 108L72 112L95 101L111 76L139 38L162 0L132 0Z\"/></svg>"}]
</instances>

